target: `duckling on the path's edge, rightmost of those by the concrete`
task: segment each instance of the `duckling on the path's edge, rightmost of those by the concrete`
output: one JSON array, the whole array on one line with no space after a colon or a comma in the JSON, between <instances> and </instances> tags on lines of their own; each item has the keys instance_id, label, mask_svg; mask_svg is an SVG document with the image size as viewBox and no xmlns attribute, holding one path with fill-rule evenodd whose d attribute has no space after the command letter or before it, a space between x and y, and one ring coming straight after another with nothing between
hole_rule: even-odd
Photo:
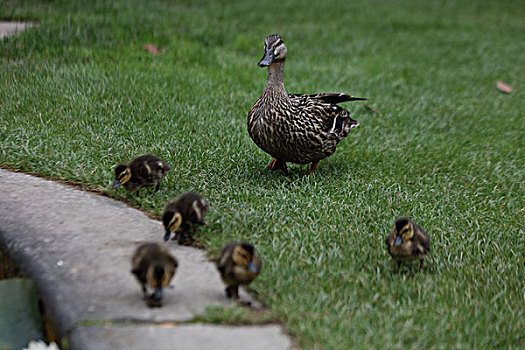
<instances>
[{"instance_id":1,"label":"duckling on the path's edge, rightmost of those by the concrete","mask_svg":"<svg viewBox=\"0 0 525 350\"><path fill-rule=\"evenodd\" d=\"M226 285L226 296L233 299L239 299L239 286L249 285L262 267L255 248L247 242L224 246L215 263Z\"/></svg>"}]
</instances>

